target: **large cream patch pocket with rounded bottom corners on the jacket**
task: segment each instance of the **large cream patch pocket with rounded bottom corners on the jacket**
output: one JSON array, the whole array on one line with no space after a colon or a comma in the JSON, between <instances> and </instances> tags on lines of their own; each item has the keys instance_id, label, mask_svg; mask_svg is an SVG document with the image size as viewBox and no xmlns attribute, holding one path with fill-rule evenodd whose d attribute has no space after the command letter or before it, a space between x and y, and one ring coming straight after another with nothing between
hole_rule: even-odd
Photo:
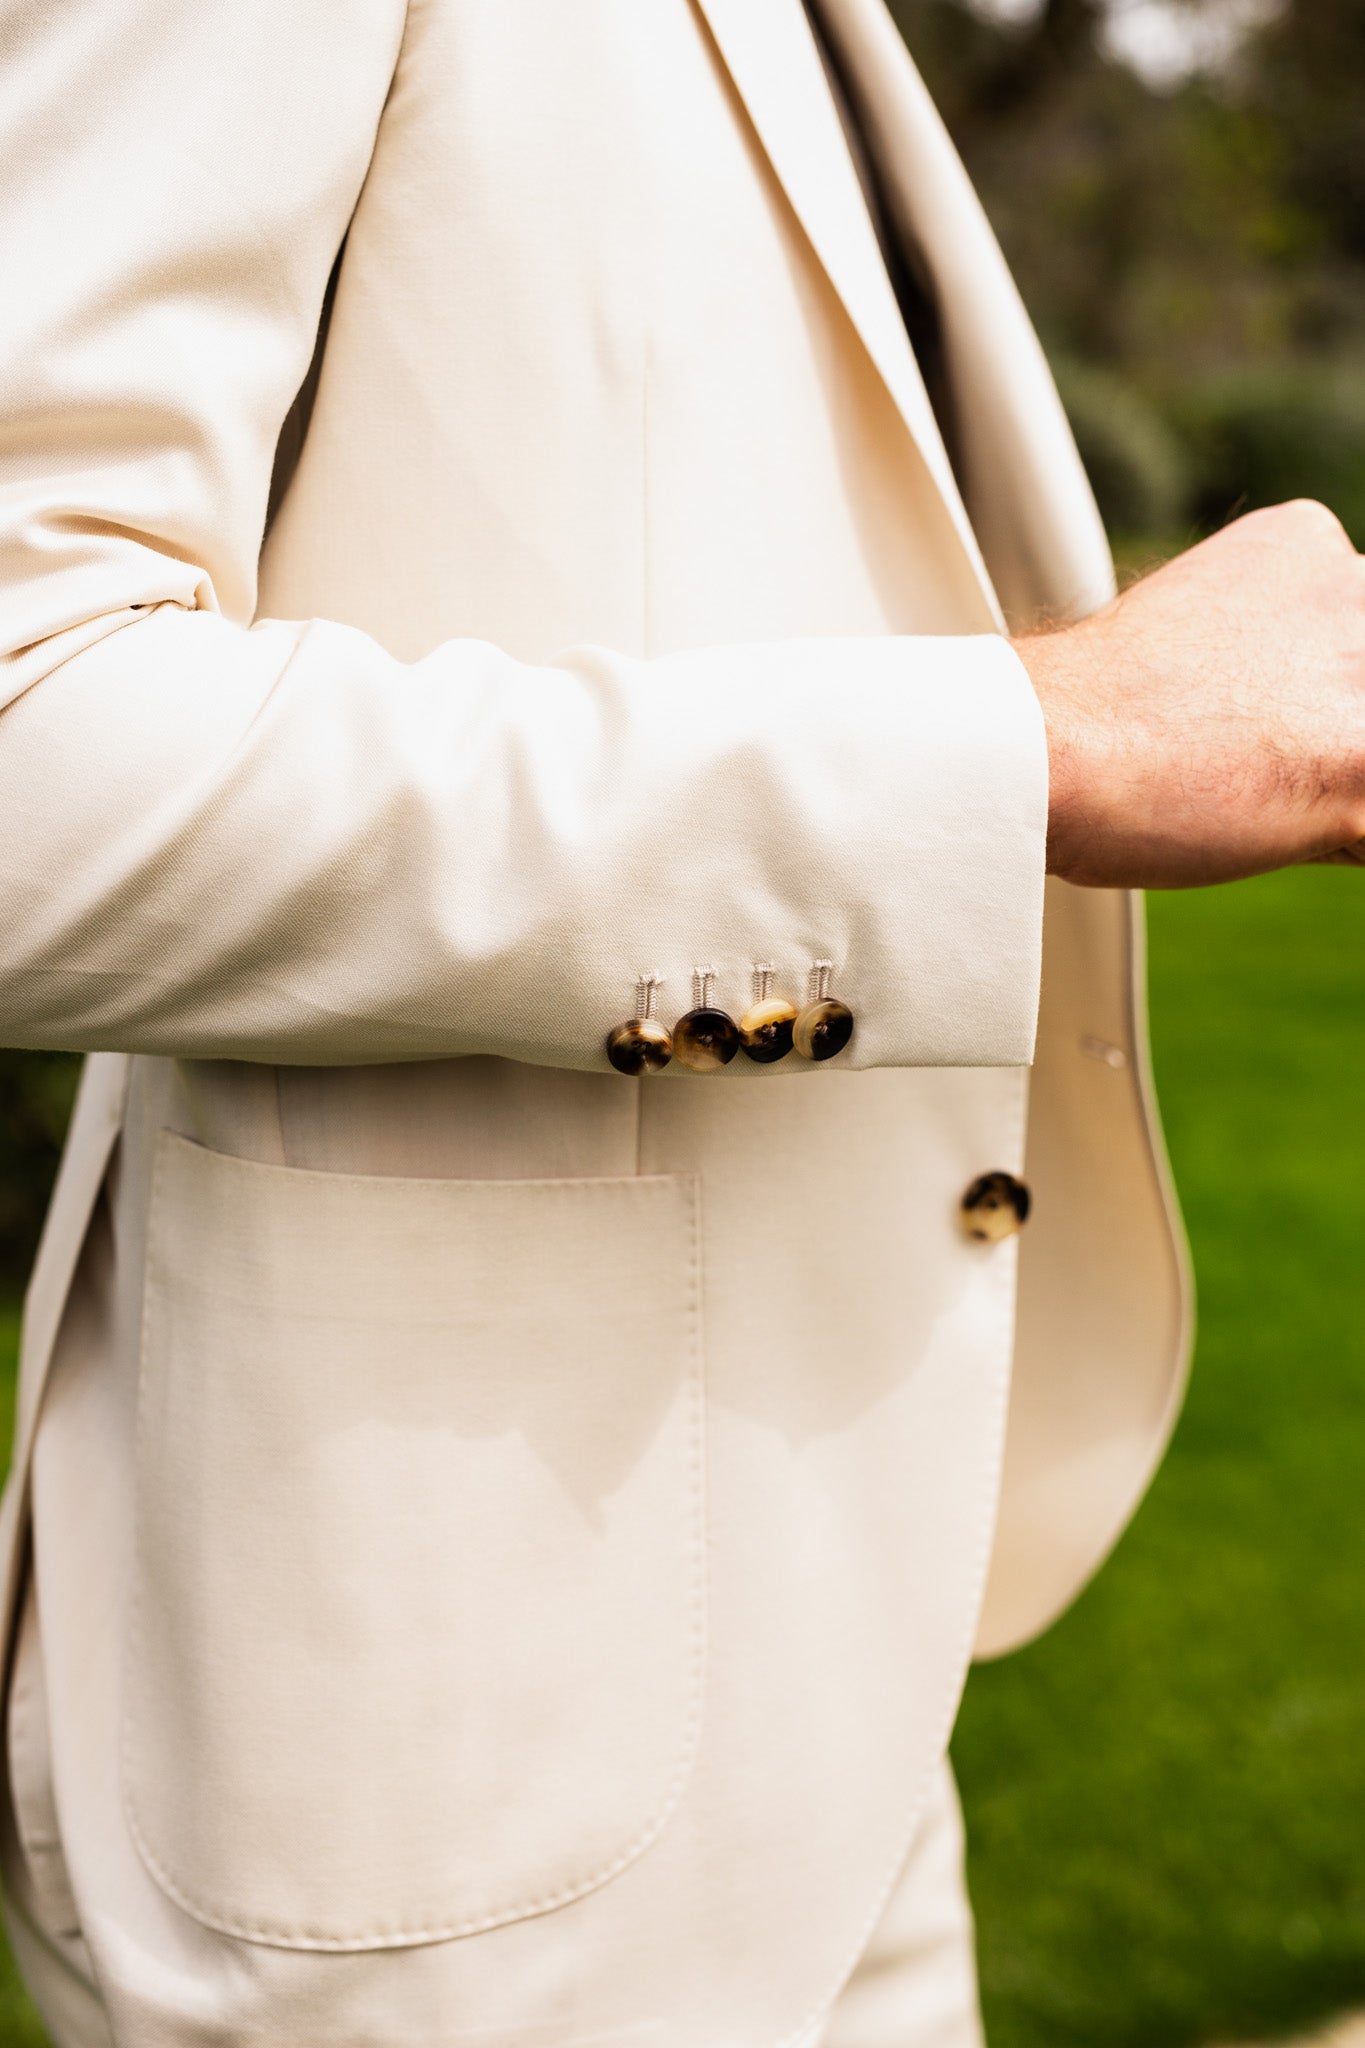
<instances>
[{"instance_id":1,"label":"large cream patch pocket with rounded bottom corners on the jacket","mask_svg":"<svg viewBox=\"0 0 1365 2048\"><path fill-rule=\"evenodd\" d=\"M399 1948L626 1870L702 1708L698 1188L160 1141L129 1825L209 1927Z\"/></svg>"}]
</instances>

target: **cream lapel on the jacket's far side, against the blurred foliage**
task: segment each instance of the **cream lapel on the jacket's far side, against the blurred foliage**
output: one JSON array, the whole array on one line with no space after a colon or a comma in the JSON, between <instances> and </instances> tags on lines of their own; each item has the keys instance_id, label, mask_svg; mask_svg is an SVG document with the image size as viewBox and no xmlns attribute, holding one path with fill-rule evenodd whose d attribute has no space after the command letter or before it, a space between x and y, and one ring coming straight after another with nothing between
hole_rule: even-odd
<instances>
[{"instance_id":1,"label":"cream lapel on the jacket's far side, against the blurred foliage","mask_svg":"<svg viewBox=\"0 0 1365 2048\"><path fill-rule=\"evenodd\" d=\"M747 6L751 0L739 0ZM933 276L962 485L1015 623L1113 590L1109 545L1052 373L976 193L882 0L821 0L896 229Z\"/></svg>"}]
</instances>

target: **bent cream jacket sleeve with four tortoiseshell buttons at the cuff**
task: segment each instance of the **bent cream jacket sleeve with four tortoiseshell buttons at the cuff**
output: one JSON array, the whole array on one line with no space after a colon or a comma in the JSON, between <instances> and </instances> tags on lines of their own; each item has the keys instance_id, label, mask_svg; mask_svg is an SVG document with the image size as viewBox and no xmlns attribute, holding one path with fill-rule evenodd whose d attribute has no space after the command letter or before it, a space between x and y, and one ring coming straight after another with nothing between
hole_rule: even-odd
<instances>
[{"instance_id":1,"label":"bent cream jacket sleeve with four tortoiseshell buttons at the cuff","mask_svg":"<svg viewBox=\"0 0 1365 2048\"><path fill-rule=\"evenodd\" d=\"M755 958L831 958L843 1065L1027 1061L1046 750L1005 641L399 664L250 623L401 29L0 0L0 1042L602 1067L641 973L671 1016L694 965L737 1010Z\"/></svg>"}]
</instances>

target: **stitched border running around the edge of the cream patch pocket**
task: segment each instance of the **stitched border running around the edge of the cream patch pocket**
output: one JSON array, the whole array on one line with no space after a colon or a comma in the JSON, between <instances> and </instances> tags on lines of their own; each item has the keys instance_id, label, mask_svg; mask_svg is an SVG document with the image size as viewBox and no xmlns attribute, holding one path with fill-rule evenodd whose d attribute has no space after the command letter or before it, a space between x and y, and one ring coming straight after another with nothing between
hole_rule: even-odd
<instances>
[{"instance_id":1,"label":"stitched border running around the edge of the cream patch pocket","mask_svg":"<svg viewBox=\"0 0 1365 2048\"><path fill-rule=\"evenodd\" d=\"M170 1151L168 1141L172 1141L176 1137L178 1137L178 1133L172 1133L172 1130L164 1130L162 1133L162 1139L158 1143L156 1165L153 1165L153 1171L151 1171L151 1196L149 1196L149 1204L147 1204L147 1264L145 1264L145 1280L143 1280L143 1313L141 1313L139 1354L137 1354L135 1473L141 1473L145 1468L145 1460L143 1460L143 1430L145 1430L145 1409L147 1409L147 1331L149 1331L149 1323L151 1323L151 1317L147 1313L147 1296L149 1296L149 1288L151 1288L151 1247L158 1241L158 1210L160 1210L160 1204L162 1204L164 1163L166 1163L166 1157L168 1157L168 1151ZM192 1143L192 1141L182 1139L182 1143ZM217 1157L229 1159L231 1155L223 1153L223 1155L217 1155ZM258 1161L235 1161L233 1159L231 1163L254 1165ZM287 1167L287 1169L276 1169L276 1171L297 1171L297 1169L289 1169ZM325 1176L325 1178L332 1178L332 1176ZM356 1180L356 1178L362 1178L362 1176L338 1176L338 1178L342 1178L342 1180ZM641 1176L612 1176L612 1178L616 1178L616 1180L636 1180ZM702 1710L704 1710L704 1698L706 1698L706 1659L708 1659L708 1612L706 1612L706 1608L708 1608L708 1604L706 1604L706 1548L708 1548L708 1530L706 1530L706 1473L704 1473L706 1405L704 1405L704 1354L702 1354L702 1341L700 1341L700 1307L702 1307L702 1303L700 1303L700 1294L702 1294L702 1272L700 1272L700 1266L702 1266L702 1262L700 1262L700 1182L698 1182L696 1174L675 1174L675 1176L669 1174L669 1176L643 1176L643 1178L651 1178L651 1180L653 1178L675 1180L686 1190L686 1196L688 1196L688 1311L686 1311L686 1323L688 1323L686 1356L688 1356L688 1366L686 1366L686 1382L688 1382L688 1454L690 1454L690 1468L688 1468L688 1509L690 1509L690 1522L692 1522L692 1538L690 1538L690 1546L688 1546L690 1548L688 1606L690 1606L690 1612L692 1612L692 1628L690 1628L692 1642L690 1642L690 1661L688 1661L688 1692L690 1692L690 1698L688 1698L688 1714L686 1714L686 1720L684 1720L684 1733L681 1733L681 1741L679 1741L679 1749L677 1749L677 1763L675 1763L673 1774L671 1774L671 1778L669 1778L669 1782L665 1786L665 1792L663 1792L663 1798L661 1798L657 1810L649 1817L649 1821L645 1823L645 1827L626 1843L624 1849L618 1849L612 1858L608 1858L606 1864L602 1864L598 1870L589 1872L587 1876L573 1878L567 1884L561 1884L557 1890L544 1892L540 1896L522 1898L522 1901L510 1903L505 1907L489 1909L487 1913L469 1915L463 1921L450 1921L450 1923L438 1925L438 1927L399 1927L399 1929L389 1929L389 1931L362 1931L362 1933L352 1933L352 1935L327 1935L327 1933L321 1933L321 1931L311 1931L307 1927L258 1927L258 1925L250 1925L250 1923L241 1921L239 1917L235 1917L231 1913L219 1913L211 1905L207 1905L203 1901L196 1901L194 1894L192 1894L192 1890L190 1890L190 1886L184 1886L166 1868L166 1862L151 1847L151 1843L147 1839L147 1833L145 1833L145 1829L141 1825L139 1812L137 1812L137 1794L135 1794L135 1784L133 1784L135 1776L137 1776L137 1772L135 1772L135 1757L133 1757L133 1749L135 1749L135 1716L133 1716L133 1710L131 1710L131 1683L125 1681L125 1712L123 1712L123 1741L121 1741L121 1780L123 1780L123 1812L125 1812L125 1819L127 1819L129 1835L133 1837L137 1853L143 1860L143 1864L147 1866L147 1870L151 1872L151 1876L156 1878L158 1886L166 1892L168 1898L172 1898L178 1907L182 1907L201 1925L213 1927L217 1933L235 1935L239 1939L258 1942L262 1946L272 1946L272 1948L307 1948L307 1950L319 1950L319 1952L332 1952L332 1954L344 1954L344 1952L352 1952L352 1950L413 1948L413 1946L417 1946L422 1942L452 1942L452 1939L458 1939L460 1935L487 1933L489 1929L493 1929L493 1927L505 1927L512 1921L534 1919L540 1913L553 1913L555 1909L573 1905L573 1901L585 1898L589 1892L596 1892L604 1884L610 1884L624 1870L628 1870L630 1864L639 1862L639 1858L657 1841L657 1837L663 1833L663 1829L671 1821L673 1812L677 1810L677 1804L679 1804L681 1794L684 1794L684 1786L686 1786L686 1782L688 1782L688 1778L692 1774L692 1765L696 1763L696 1753L698 1753L698 1747L700 1747ZM591 1188L596 1184L600 1184L600 1176L593 1176L593 1178L587 1178L587 1180L581 1180L581 1182L573 1180L573 1178L563 1178L563 1180L557 1180L557 1182L548 1182L548 1180L546 1182L514 1182L512 1186L524 1186L524 1188L530 1188L530 1186L544 1186L544 1188L555 1186L555 1188L561 1188L561 1190L569 1190L569 1188ZM133 1669L133 1665L137 1661L137 1655L141 1651L141 1610L143 1610L143 1579L145 1579L145 1573L141 1571L141 1559L143 1559L143 1505L145 1505L145 1489L139 1485L137 1487L137 1499L135 1499L135 1516L133 1516L133 1556L135 1556L133 1593L131 1593L131 1602L129 1602L129 1624L127 1624L127 1636L125 1636L125 1655L127 1655L129 1673L131 1673L131 1669Z\"/></svg>"}]
</instances>

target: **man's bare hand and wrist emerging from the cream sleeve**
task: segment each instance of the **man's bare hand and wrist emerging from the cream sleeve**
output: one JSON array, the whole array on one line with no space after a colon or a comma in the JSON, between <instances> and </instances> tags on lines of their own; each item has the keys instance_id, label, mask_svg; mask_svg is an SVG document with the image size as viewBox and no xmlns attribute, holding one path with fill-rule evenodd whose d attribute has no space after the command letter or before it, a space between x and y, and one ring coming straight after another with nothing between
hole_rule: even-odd
<instances>
[{"instance_id":1,"label":"man's bare hand and wrist emerging from the cream sleeve","mask_svg":"<svg viewBox=\"0 0 1365 2048\"><path fill-rule=\"evenodd\" d=\"M1365 561L1250 512L1076 627L1015 641L1048 727L1048 868L1179 889L1365 862Z\"/></svg>"}]
</instances>

